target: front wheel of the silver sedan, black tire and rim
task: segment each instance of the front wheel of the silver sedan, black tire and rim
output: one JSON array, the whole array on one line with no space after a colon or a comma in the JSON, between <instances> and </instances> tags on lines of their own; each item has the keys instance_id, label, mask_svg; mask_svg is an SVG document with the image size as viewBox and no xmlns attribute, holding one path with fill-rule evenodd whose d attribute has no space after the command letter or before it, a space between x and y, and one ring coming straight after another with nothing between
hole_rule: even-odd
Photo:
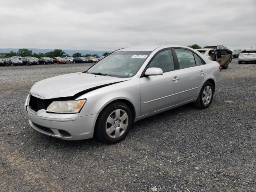
<instances>
[{"instance_id":1,"label":"front wheel of the silver sedan, black tire and rim","mask_svg":"<svg viewBox=\"0 0 256 192\"><path fill-rule=\"evenodd\" d=\"M116 115L119 118L116 118ZM128 105L123 102L112 102L100 112L96 121L94 136L106 144L118 143L126 137L132 123L132 112Z\"/></svg>"}]
</instances>

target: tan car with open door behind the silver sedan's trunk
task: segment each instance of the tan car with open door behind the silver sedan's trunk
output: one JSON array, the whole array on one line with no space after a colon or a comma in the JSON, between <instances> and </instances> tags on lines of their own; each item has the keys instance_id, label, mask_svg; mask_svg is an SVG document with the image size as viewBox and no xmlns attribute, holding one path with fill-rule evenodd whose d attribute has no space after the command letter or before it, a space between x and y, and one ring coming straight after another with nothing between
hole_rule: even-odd
<instances>
[{"instance_id":1,"label":"tan car with open door behind the silver sedan's trunk","mask_svg":"<svg viewBox=\"0 0 256 192\"><path fill-rule=\"evenodd\" d=\"M196 49L208 59L216 61L220 64L223 69L228 68L228 63L232 57L232 51L228 49Z\"/></svg>"}]
</instances>

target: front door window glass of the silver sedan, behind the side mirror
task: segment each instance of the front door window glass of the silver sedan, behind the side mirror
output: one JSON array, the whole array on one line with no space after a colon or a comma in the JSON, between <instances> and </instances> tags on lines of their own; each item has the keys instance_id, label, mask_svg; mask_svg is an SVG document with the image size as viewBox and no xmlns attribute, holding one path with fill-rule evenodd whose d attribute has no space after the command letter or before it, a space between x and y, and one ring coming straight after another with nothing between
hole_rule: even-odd
<instances>
[{"instance_id":1,"label":"front door window glass of the silver sedan, behind the side mirror","mask_svg":"<svg viewBox=\"0 0 256 192\"><path fill-rule=\"evenodd\" d=\"M164 50L158 53L154 59L150 62L148 68L157 67L161 68L163 72L169 72L174 70L174 61L172 57L172 50Z\"/></svg>"}]
</instances>

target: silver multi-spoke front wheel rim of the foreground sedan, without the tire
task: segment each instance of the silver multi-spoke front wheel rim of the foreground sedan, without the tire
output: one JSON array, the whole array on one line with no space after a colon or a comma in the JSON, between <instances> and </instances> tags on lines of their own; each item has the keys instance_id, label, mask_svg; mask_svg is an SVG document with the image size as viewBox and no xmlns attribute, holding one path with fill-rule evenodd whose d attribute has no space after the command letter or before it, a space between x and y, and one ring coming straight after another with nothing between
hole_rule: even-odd
<instances>
[{"instance_id":1,"label":"silver multi-spoke front wheel rim of the foreground sedan, without the tire","mask_svg":"<svg viewBox=\"0 0 256 192\"><path fill-rule=\"evenodd\" d=\"M122 109L116 109L108 116L106 132L110 138L119 138L128 127L128 115Z\"/></svg>"}]
</instances>

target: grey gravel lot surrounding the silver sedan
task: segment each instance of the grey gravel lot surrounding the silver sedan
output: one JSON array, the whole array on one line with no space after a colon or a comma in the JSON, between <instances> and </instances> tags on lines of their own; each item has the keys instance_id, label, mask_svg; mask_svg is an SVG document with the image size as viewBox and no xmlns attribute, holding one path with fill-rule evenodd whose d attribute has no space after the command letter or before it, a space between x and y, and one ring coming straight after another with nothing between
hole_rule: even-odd
<instances>
[{"instance_id":1,"label":"grey gravel lot surrounding the silver sedan","mask_svg":"<svg viewBox=\"0 0 256 192\"><path fill-rule=\"evenodd\" d=\"M256 191L256 64L233 59L208 109L188 104L140 120L115 145L31 128L30 87L88 66L0 67L1 192Z\"/></svg>"}]
</instances>

